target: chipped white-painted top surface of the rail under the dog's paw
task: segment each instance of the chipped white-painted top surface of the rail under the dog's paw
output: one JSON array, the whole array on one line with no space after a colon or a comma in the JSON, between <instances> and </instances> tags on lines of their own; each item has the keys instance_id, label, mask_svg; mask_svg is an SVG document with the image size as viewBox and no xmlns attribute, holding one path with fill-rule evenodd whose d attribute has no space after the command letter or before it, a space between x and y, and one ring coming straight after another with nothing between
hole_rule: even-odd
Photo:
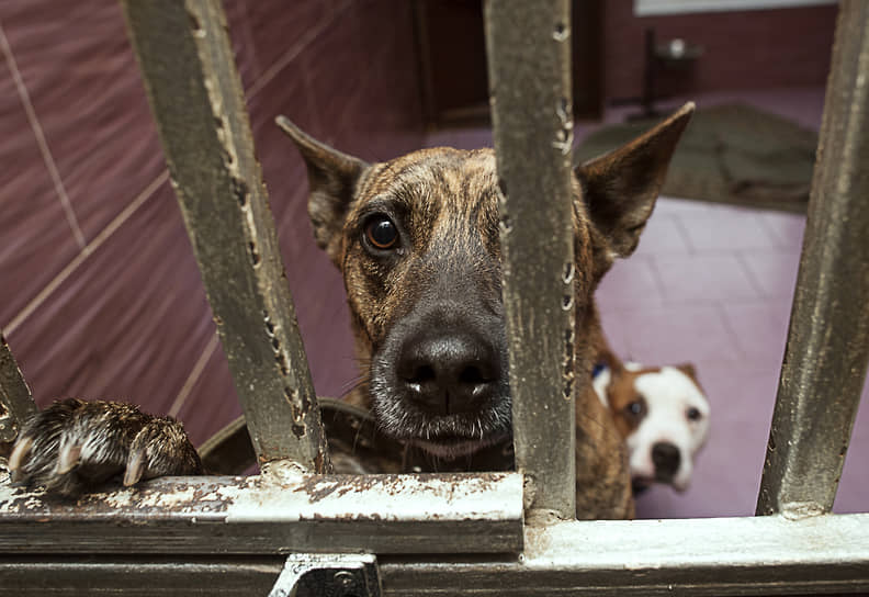
<instances>
[{"instance_id":1,"label":"chipped white-painted top surface of the rail under the dog's paw","mask_svg":"<svg viewBox=\"0 0 869 597\"><path fill-rule=\"evenodd\" d=\"M225 522L297 520L521 520L522 477L515 473L312 475L290 469L250 477L166 477L77 502L0 485L0 523L36 517L184 517ZM219 515L219 516L217 516Z\"/></svg>"}]
</instances>

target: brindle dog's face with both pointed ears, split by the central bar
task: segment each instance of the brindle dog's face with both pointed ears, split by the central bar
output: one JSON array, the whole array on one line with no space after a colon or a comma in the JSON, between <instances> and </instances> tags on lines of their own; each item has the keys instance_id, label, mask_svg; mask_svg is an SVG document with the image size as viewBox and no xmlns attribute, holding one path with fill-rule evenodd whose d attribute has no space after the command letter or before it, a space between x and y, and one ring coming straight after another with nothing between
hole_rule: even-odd
<instances>
[{"instance_id":1,"label":"brindle dog's face with both pointed ears, split by the central bar","mask_svg":"<svg viewBox=\"0 0 869 597\"><path fill-rule=\"evenodd\" d=\"M578 308L635 248L691 109L576 169ZM370 166L279 124L307 164L315 236L343 273L381 428L448 459L507 436L494 153L426 149Z\"/></svg>"}]
</instances>

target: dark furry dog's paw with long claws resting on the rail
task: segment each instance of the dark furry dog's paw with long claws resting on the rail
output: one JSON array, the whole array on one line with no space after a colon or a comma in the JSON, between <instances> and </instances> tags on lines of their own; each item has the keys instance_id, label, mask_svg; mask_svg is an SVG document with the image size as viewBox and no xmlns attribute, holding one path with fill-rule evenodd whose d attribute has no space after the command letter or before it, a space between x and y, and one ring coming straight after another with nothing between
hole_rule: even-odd
<instances>
[{"instance_id":1,"label":"dark furry dog's paw with long claws resting on the rail","mask_svg":"<svg viewBox=\"0 0 869 597\"><path fill-rule=\"evenodd\" d=\"M180 423L113 402L56 402L22 427L9 469L13 482L77 497L110 478L124 485L162 475L201 474Z\"/></svg>"}]
</instances>

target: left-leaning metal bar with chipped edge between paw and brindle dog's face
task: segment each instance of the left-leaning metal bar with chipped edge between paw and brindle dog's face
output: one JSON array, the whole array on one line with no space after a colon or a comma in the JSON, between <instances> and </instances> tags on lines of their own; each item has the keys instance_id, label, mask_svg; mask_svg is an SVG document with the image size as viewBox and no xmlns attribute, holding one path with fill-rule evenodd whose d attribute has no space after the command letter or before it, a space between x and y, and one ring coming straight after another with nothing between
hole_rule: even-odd
<instances>
[{"instance_id":1,"label":"left-leaning metal bar with chipped edge between paw and brindle dog's face","mask_svg":"<svg viewBox=\"0 0 869 597\"><path fill-rule=\"evenodd\" d=\"M123 5L259 461L323 471L319 408L221 2Z\"/></svg>"}]
</instances>

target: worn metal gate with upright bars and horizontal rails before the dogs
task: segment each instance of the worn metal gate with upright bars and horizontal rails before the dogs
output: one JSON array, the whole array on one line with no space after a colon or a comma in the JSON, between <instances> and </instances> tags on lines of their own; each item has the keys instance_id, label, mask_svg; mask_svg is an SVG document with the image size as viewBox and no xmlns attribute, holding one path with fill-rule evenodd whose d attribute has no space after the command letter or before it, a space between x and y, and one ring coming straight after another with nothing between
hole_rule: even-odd
<instances>
[{"instance_id":1,"label":"worn metal gate with upright bars and horizontal rails before the dogs","mask_svg":"<svg viewBox=\"0 0 869 597\"><path fill-rule=\"evenodd\" d=\"M761 516L635 521L572 520L572 339L545 341L573 329L568 4L486 4L518 472L353 476L328 474L221 2L124 2L262 474L69 505L0 472L0 593L869 590L869 514L830 514L869 359L869 3L839 9ZM0 441L34 409L3 342Z\"/></svg>"}]
</instances>

